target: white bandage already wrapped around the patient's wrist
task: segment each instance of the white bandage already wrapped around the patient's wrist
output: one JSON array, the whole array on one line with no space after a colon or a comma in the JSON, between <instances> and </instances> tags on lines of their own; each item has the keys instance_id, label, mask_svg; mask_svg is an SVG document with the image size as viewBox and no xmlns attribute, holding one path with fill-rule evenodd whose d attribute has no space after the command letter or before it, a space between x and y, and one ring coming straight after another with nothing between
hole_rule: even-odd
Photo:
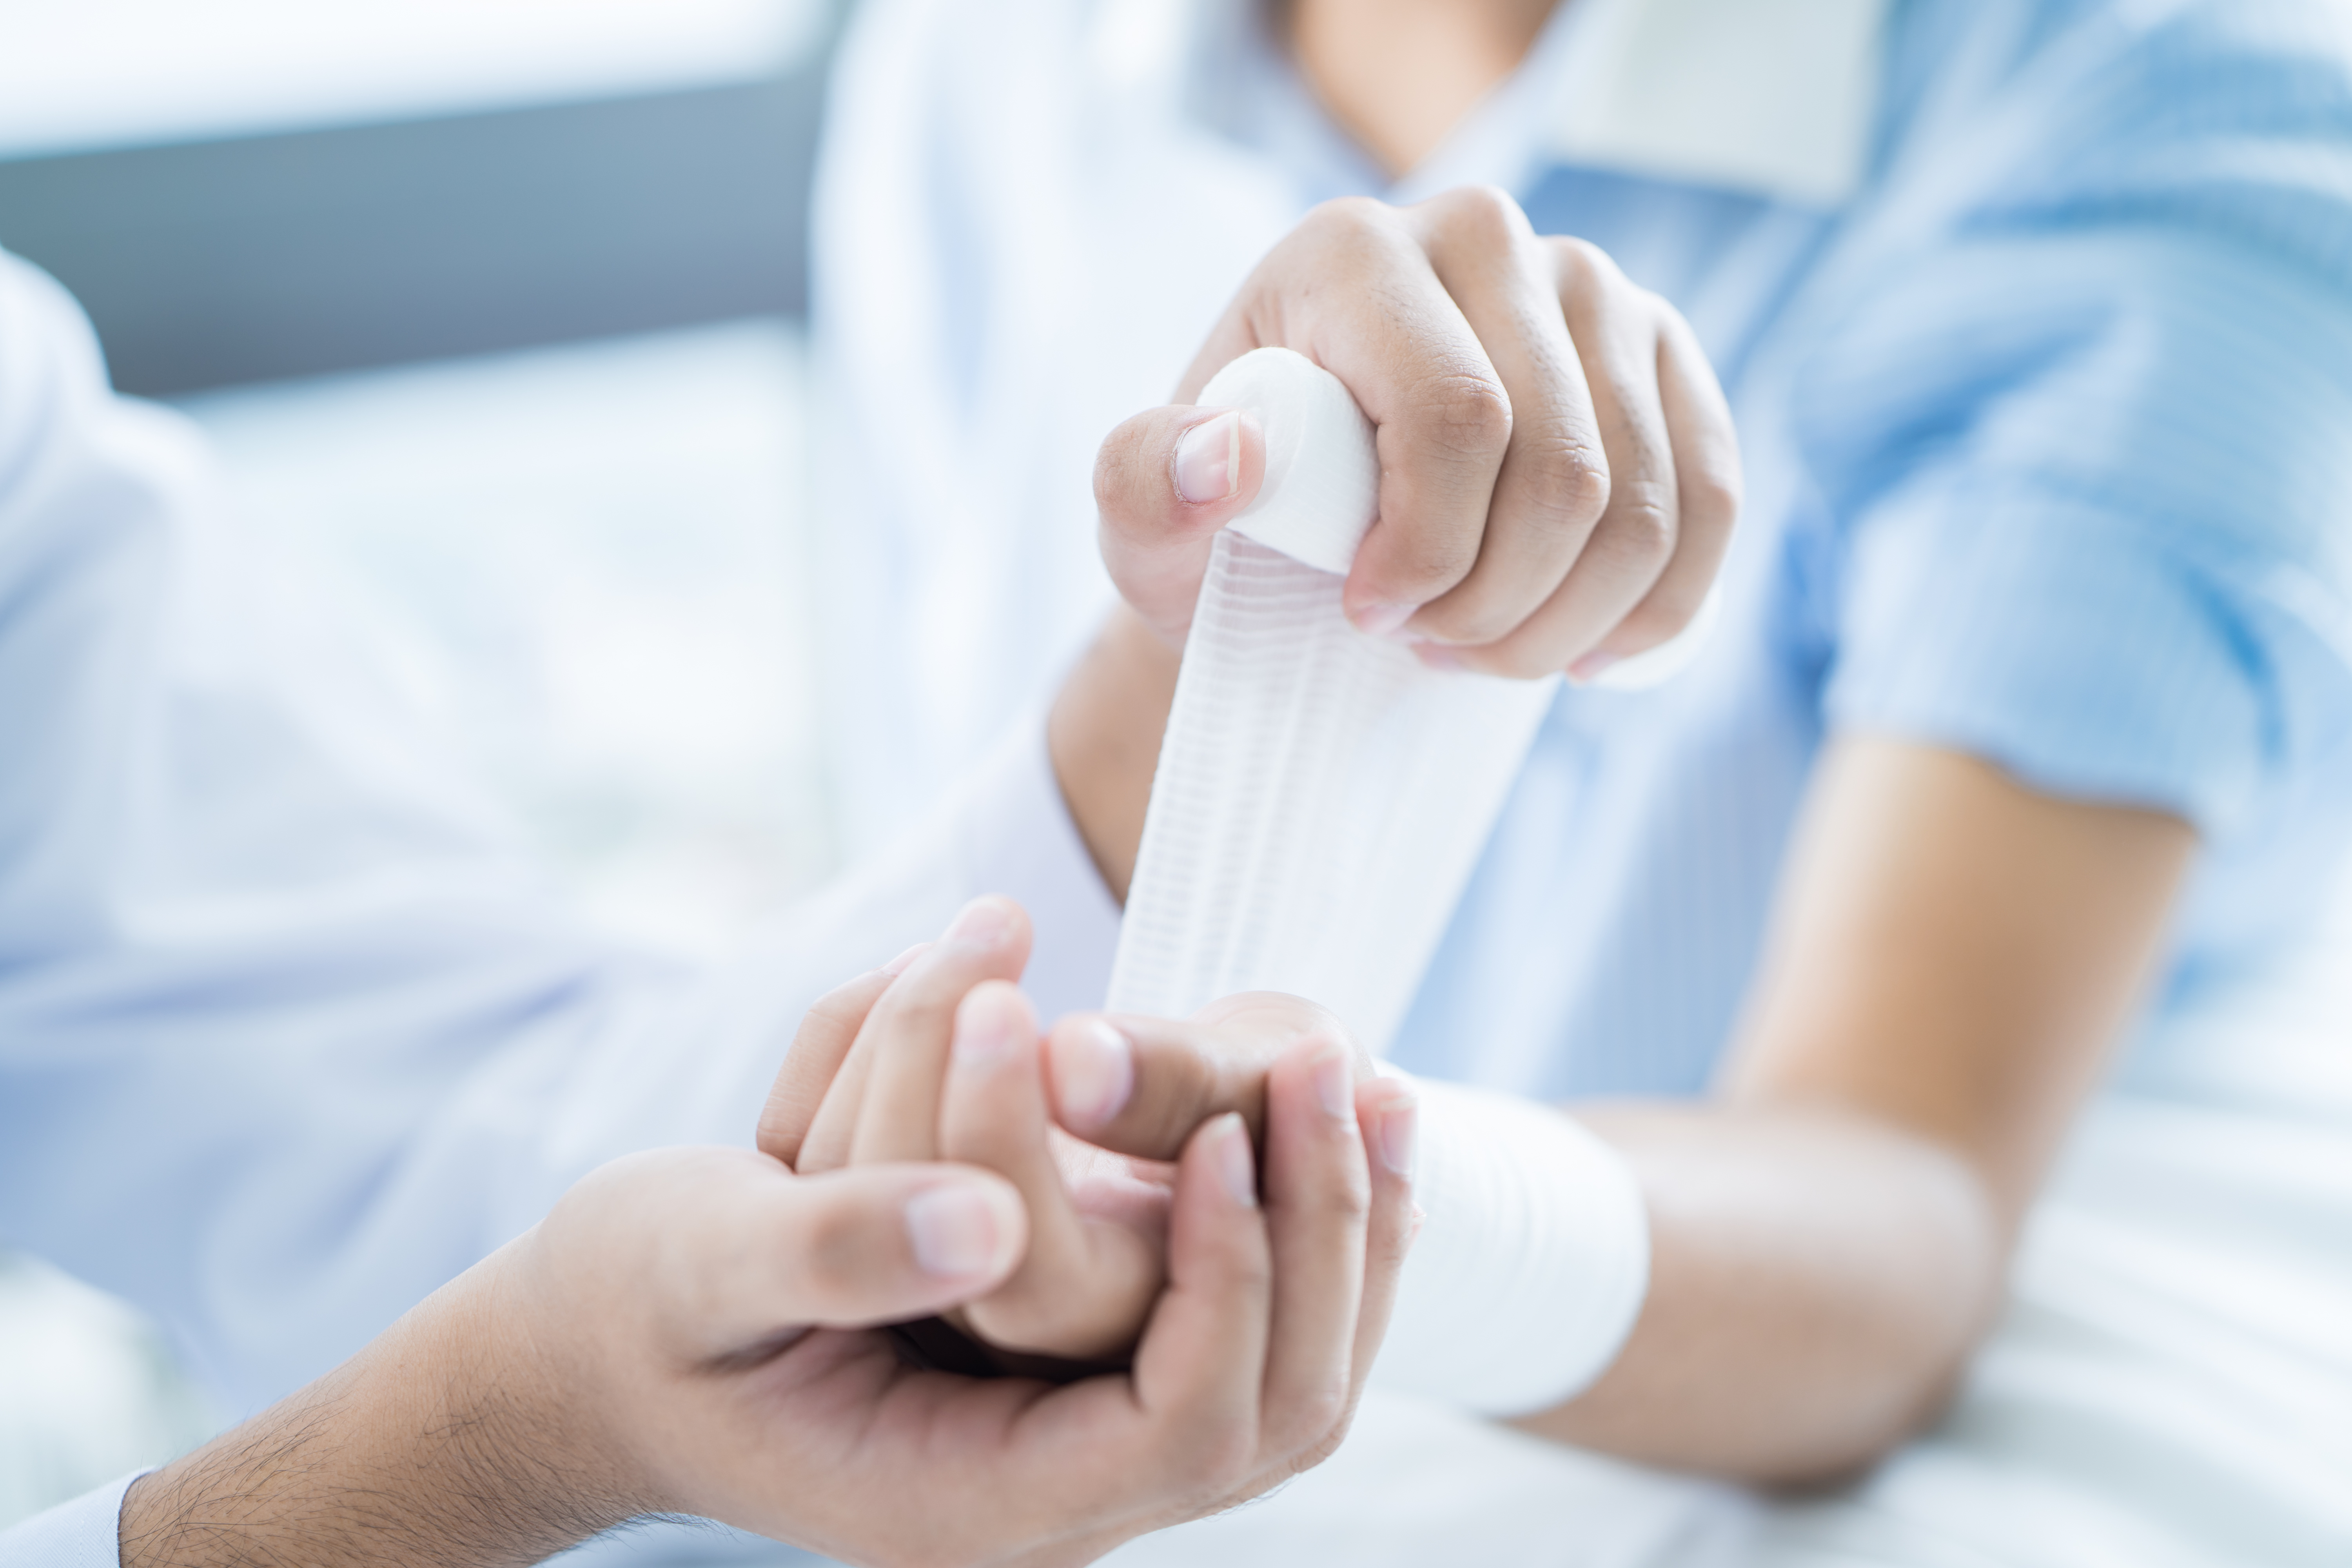
<instances>
[{"instance_id":1,"label":"white bandage already wrapped around the patient's wrist","mask_svg":"<svg viewBox=\"0 0 2352 1568\"><path fill-rule=\"evenodd\" d=\"M1571 1117L1416 1079L1425 1211L1374 1382L1526 1415L1616 1361L1649 1291L1649 1211L1625 1159Z\"/></svg>"}]
</instances>

